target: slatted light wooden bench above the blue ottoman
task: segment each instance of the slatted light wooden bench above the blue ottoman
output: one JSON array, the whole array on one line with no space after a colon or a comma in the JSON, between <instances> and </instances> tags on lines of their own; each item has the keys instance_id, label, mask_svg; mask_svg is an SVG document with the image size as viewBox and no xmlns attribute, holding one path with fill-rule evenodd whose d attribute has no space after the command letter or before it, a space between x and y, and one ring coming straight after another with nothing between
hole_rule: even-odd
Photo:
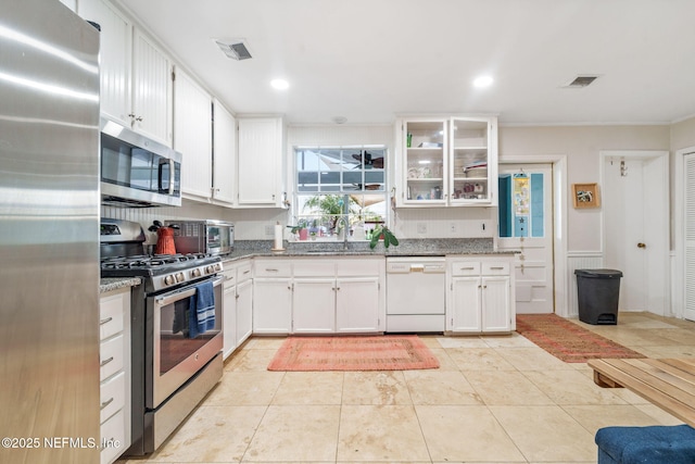
<instances>
[{"instance_id":1,"label":"slatted light wooden bench above the blue ottoman","mask_svg":"<svg viewBox=\"0 0 695 464\"><path fill-rule=\"evenodd\" d=\"M695 358L590 360L594 383L624 387L695 427Z\"/></svg>"}]
</instances>

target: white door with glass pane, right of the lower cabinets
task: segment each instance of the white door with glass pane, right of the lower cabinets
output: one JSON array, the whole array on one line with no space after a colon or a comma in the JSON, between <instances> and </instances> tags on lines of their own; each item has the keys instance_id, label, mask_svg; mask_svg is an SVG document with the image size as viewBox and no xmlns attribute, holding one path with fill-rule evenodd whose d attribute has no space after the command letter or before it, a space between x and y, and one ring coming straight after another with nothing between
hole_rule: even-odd
<instances>
[{"instance_id":1,"label":"white door with glass pane, right of the lower cabinets","mask_svg":"<svg viewBox=\"0 0 695 464\"><path fill-rule=\"evenodd\" d=\"M555 312L553 165L500 165L500 250L517 250L516 312Z\"/></svg>"}]
</instances>

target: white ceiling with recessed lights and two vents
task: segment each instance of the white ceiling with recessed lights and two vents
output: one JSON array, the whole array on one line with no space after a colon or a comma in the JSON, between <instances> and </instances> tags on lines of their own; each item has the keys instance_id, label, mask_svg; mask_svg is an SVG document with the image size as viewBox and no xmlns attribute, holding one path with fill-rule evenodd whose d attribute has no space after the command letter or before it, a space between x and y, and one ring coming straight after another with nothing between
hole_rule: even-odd
<instances>
[{"instance_id":1,"label":"white ceiling with recessed lights and two vents","mask_svg":"<svg viewBox=\"0 0 695 464\"><path fill-rule=\"evenodd\" d=\"M117 0L236 113L293 124L497 114L501 124L695 115L693 0ZM243 38L250 60L213 38ZM473 88L482 74L491 87ZM585 88L564 88L578 75ZM269 86L274 78L287 90Z\"/></svg>"}]
</instances>

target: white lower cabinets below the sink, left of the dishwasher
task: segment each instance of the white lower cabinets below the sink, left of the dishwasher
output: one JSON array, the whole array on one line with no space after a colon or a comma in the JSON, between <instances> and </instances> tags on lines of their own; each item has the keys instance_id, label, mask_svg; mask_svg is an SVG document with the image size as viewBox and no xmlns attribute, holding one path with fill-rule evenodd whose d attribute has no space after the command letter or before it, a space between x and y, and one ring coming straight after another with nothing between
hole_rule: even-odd
<instances>
[{"instance_id":1,"label":"white lower cabinets below the sink, left of the dishwasher","mask_svg":"<svg viewBox=\"0 0 695 464\"><path fill-rule=\"evenodd\" d=\"M384 259L260 259L254 262L254 334L384 330Z\"/></svg>"}]
</instances>

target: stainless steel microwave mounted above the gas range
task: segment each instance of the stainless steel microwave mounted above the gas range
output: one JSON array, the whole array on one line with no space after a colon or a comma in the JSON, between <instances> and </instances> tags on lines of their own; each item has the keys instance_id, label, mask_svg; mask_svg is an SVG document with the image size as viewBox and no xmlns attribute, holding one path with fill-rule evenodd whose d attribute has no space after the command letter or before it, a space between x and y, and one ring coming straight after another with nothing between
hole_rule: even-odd
<instances>
[{"instance_id":1,"label":"stainless steel microwave mounted above the gas range","mask_svg":"<svg viewBox=\"0 0 695 464\"><path fill-rule=\"evenodd\" d=\"M181 205L181 153L101 118L102 204Z\"/></svg>"}]
</instances>

